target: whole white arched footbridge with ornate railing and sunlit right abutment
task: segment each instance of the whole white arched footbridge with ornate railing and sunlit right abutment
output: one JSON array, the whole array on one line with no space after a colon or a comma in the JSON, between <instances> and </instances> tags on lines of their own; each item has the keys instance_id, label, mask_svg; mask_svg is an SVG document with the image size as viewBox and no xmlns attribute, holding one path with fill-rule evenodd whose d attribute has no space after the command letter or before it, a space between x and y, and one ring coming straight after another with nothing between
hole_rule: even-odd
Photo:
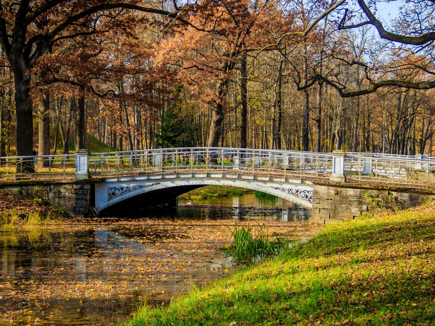
<instances>
[{"instance_id":1,"label":"whole white arched footbridge with ornate railing and sunlit right abutment","mask_svg":"<svg viewBox=\"0 0 435 326\"><path fill-rule=\"evenodd\" d=\"M392 193L407 194L404 206L410 206L411 198L415 202L416 196L432 196L435 190L435 160L420 154L193 147L110 153L79 150L74 155L0 160L4 189L13 180L29 185L37 180L52 186L87 184L90 190L85 194L81 189L76 195L89 195L94 213L133 197L154 194L148 200L164 200L213 184L269 193L310 209L320 218L336 219L370 212L365 203L369 198L371 203L373 198L382 202L380 211L388 206L385 201L391 203ZM400 197L394 195L394 202L403 201Z\"/></svg>"}]
</instances>

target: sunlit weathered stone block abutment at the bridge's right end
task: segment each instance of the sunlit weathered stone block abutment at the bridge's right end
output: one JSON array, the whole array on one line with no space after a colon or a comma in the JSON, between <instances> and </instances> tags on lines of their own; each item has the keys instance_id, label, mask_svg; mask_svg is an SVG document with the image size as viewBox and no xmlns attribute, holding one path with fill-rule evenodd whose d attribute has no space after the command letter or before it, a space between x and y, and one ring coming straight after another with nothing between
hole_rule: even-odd
<instances>
[{"instance_id":1,"label":"sunlit weathered stone block abutment at the bridge's right end","mask_svg":"<svg viewBox=\"0 0 435 326\"><path fill-rule=\"evenodd\" d=\"M311 217L321 223L353 220L361 214L401 210L435 200L432 190L341 182L314 184Z\"/></svg>"}]
</instances>

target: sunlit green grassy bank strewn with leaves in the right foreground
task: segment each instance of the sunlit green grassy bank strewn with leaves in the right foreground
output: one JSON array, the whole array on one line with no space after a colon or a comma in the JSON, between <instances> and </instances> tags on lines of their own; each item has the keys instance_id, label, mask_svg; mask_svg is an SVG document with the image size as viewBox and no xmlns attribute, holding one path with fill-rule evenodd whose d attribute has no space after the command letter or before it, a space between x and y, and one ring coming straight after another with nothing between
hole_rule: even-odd
<instances>
[{"instance_id":1,"label":"sunlit green grassy bank strewn with leaves in the right foreground","mask_svg":"<svg viewBox=\"0 0 435 326\"><path fill-rule=\"evenodd\" d=\"M328 226L278 259L143 306L133 325L427 325L435 320L435 204Z\"/></svg>"}]
</instances>

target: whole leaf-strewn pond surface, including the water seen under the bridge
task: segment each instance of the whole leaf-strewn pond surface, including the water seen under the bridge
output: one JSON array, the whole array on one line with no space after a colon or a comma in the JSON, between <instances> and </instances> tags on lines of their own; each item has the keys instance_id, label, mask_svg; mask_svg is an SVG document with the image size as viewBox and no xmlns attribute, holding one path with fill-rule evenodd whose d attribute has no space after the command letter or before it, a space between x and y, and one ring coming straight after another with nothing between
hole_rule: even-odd
<instances>
[{"instance_id":1,"label":"whole leaf-strewn pond surface, including the water seen under the bridge","mask_svg":"<svg viewBox=\"0 0 435 326\"><path fill-rule=\"evenodd\" d=\"M243 266L216 252L236 223L291 240L321 231L309 211L254 194L180 203L177 216L77 218L0 233L0 325L116 325Z\"/></svg>"}]
</instances>

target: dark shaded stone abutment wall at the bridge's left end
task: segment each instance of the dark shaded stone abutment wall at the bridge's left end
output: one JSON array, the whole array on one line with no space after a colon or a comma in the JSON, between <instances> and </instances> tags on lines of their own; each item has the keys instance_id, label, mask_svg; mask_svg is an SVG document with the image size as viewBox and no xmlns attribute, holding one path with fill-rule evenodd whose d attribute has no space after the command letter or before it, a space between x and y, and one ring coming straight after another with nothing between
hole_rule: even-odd
<instances>
[{"instance_id":1,"label":"dark shaded stone abutment wall at the bridge's left end","mask_svg":"<svg viewBox=\"0 0 435 326\"><path fill-rule=\"evenodd\" d=\"M24 199L42 199L70 216L90 215L90 207L94 206L94 184L87 181L68 180L52 184L46 181L18 181L0 183L0 189Z\"/></svg>"}]
</instances>

